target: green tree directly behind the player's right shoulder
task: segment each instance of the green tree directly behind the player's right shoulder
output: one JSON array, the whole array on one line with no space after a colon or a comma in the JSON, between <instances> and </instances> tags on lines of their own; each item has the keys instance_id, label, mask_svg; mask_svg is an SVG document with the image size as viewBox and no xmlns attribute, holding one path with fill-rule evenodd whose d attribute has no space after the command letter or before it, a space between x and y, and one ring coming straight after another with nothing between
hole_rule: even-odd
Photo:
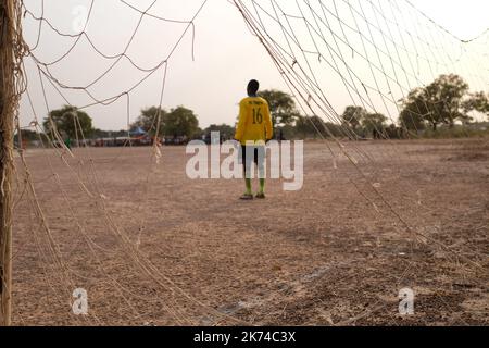
<instances>
[{"instance_id":1,"label":"green tree directly behind the player's right shoulder","mask_svg":"<svg viewBox=\"0 0 489 348\"><path fill-rule=\"evenodd\" d=\"M296 102L288 94L269 89L259 92L259 97L262 97L268 102L274 127L291 125L298 120L299 112L296 109Z\"/></svg>"}]
</instances>

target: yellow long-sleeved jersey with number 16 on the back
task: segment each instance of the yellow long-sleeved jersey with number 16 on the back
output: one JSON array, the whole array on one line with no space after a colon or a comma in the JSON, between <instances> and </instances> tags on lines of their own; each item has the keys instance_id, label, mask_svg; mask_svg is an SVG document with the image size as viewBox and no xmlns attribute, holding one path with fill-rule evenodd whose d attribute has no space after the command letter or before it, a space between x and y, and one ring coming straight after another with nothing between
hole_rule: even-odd
<instances>
[{"instance_id":1,"label":"yellow long-sleeved jersey with number 16 on the back","mask_svg":"<svg viewBox=\"0 0 489 348\"><path fill-rule=\"evenodd\" d=\"M241 145L271 140L274 136L268 103L260 97L249 97L239 103L239 122L235 138Z\"/></svg>"}]
</instances>

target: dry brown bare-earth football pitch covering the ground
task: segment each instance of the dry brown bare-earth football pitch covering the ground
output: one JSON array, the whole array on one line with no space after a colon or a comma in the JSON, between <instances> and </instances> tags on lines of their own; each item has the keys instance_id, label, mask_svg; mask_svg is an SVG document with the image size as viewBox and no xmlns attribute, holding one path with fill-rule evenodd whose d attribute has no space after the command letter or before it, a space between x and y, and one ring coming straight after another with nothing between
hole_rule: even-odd
<instances>
[{"instance_id":1,"label":"dry brown bare-earth football pitch covering the ground","mask_svg":"<svg viewBox=\"0 0 489 348\"><path fill-rule=\"evenodd\" d=\"M268 181L251 202L241 181L188 179L180 147L155 172L149 148L75 149L71 167L28 151L14 323L488 325L488 140L347 144L358 169L336 170L328 145L306 144L302 190Z\"/></svg>"}]
</instances>

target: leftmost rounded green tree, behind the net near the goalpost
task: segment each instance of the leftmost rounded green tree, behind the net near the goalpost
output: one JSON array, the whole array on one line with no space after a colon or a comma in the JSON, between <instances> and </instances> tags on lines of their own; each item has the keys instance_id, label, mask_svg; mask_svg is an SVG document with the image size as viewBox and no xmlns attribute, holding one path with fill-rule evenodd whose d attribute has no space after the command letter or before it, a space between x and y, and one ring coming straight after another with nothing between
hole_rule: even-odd
<instances>
[{"instance_id":1,"label":"leftmost rounded green tree, behind the net near the goalpost","mask_svg":"<svg viewBox=\"0 0 489 348\"><path fill-rule=\"evenodd\" d=\"M83 136L88 138L93 132L91 117L86 112L70 105L52 110L42 123L47 134L52 134L53 125L62 137L68 138Z\"/></svg>"}]
</instances>

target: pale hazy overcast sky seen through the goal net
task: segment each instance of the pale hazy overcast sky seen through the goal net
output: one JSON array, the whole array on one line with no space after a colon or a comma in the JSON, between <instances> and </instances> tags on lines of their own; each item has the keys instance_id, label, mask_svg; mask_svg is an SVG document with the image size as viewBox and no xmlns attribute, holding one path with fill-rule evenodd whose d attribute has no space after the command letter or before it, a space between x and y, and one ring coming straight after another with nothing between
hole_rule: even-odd
<instances>
[{"instance_id":1,"label":"pale hazy overcast sky seen through the goal net","mask_svg":"<svg viewBox=\"0 0 489 348\"><path fill-rule=\"evenodd\" d=\"M331 5L331 1L323 1L326 9ZM365 10L359 9L358 1L350 0L349 3L355 10ZM374 0L374 2L378 1L380 4L389 4L388 0ZM461 39L472 38L489 27L489 2L487 0L411 1L415 7ZM24 2L29 11L40 16L40 1L26 0ZM133 0L128 2L138 9L145 10L152 1ZM288 8L292 2L296 3L296 1L277 2L284 3L284 9L297 14L297 9L292 7ZM314 1L311 0L311 2ZM353 26L352 12L346 7L348 1L337 0L336 2L339 7L340 16ZM403 1L399 1L399 3ZM149 13L167 18L189 21L200 8L201 3L202 1L200 0L160 0L151 8ZM244 3L249 4L250 2L244 1ZM269 1L258 1L258 3L263 3L265 7ZM366 2L362 1L362 3ZM84 9L88 9L89 4L90 1L82 0L46 0L43 16L60 32L74 35L77 34L77 28L79 30L80 23L83 25L80 18L83 18L84 11L86 11ZM368 9L365 11L368 21L375 23L376 17L374 17L374 12L369 12ZM414 12L410 13L412 14ZM390 16L389 12L387 12L387 7L386 15ZM124 47L129 41L130 35L138 24L139 16L140 14L138 12L118 0L96 0L92 8L92 15L88 22L87 33L93 45L104 54L116 55L124 51ZM331 16L330 18L334 17ZM392 16L390 18L393 20ZM415 20L419 22L416 24L414 22ZM413 73L411 78L408 77L405 82L402 82L397 90L392 90L394 95L392 99L402 98L406 92L403 88L429 83L432 80L434 73L435 75L449 73L451 72L449 70L452 67L454 72L460 73L467 79L474 90L489 90L487 78L489 76L489 58L484 55L488 53L488 35L473 44L461 46L456 40L451 40L447 36L441 35L440 30L435 29L432 25L428 25L428 22L419 15L417 17L405 15L403 18L398 18L398 21L405 21L405 27L412 30L418 27L421 28L421 26L416 27L419 23L424 25L424 29L428 30L430 28L429 30L432 33L424 32L424 37L428 40L432 39L432 45L437 51L435 53L430 52L428 46L424 47L422 44L417 46L416 42L412 44L411 48L413 50L423 49L423 52L428 59L440 62L440 64L428 69L429 63L427 61L421 60L416 62L414 64L415 67L412 67L416 72ZM190 28L168 61L163 108L171 109L183 104L192 109L199 116L201 127L205 127L212 123L234 124L238 112L237 104L244 97L244 88L250 78L259 79L262 88L288 90L263 46L255 37L250 35L241 14L230 2L226 0L209 0L195 23L195 61L192 61L191 54L192 30ZM384 24L386 26L383 27L387 32L389 28L386 23ZM274 22L265 23L265 25L269 25L268 28L273 35L278 33L275 30L279 29L279 27ZM276 26L275 28L274 25ZM362 33L366 32L365 26L362 26L361 23L359 25ZM23 27L28 45L32 48L36 47L34 54L45 63L58 61L60 57L65 54L75 40L75 38L59 36L43 24L40 40L36 46L39 29L38 22L29 15L26 15ZM171 52L186 27L187 24L167 23L145 17L127 50L127 55L130 57L136 65L142 69L152 69ZM338 32L340 30L334 24L331 24L331 28L334 30L335 28ZM393 26L390 28L394 30ZM301 44L305 48L308 45L311 45L310 40L304 36L304 27L301 28L298 26L297 33L299 34L300 40L303 38L303 42ZM393 57L394 46L389 46L389 42L386 44L383 41L378 33L373 33L373 36L376 45L385 45L384 48L386 51ZM349 38L350 45L359 48L359 51L362 51L361 41L355 37L353 32L348 33L347 30L347 37ZM327 52L327 45L333 45L334 38L335 36L333 34L330 37L326 37L325 45L319 49L324 49ZM398 37L399 39L400 37ZM408 40L409 37L405 36L405 39ZM277 37L277 40L279 41L280 38ZM440 51L441 48L443 48L444 55ZM344 53L346 51L348 51L346 47L338 48L338 52ZM366 51L371 52L371 58L374 57L374 51L368 45ZM408 51L410 51L410 47L408 47ZM408 66L408 62L411 63L409 54L406 53L405 57L400 58L401 65L405 63ZM374 85L375 76L379 79L381 79L380 77L386 77L386 75L383 76L378 71L372 75L371 66L359 57L352 55L352 53L348 53L348 57L344 61L347 65L366 84ZM415 60L414 53L411 58ZM377 57L376 59L376 66L389 65L389 59L387 57ZM73 51L61 61L50 65L49 71L64 85L86 86L95 82L114 62L115 59L108 60L101 58L88 41L82 38ZM337 112L340 113L352 101L356 103L361 102L362 97L360 95L358 98L353 96L352 100L351 94L349 94L348 88L344 86L344 82L339 79L338 74L330 69L331 65L327 64L331 62L333 60L329 62L317 62L313 64L312 71L317 74L319 79L318 85ZM410 67L406 69L409 70ZM29 92L34 99L36 113L39 117L43 117L47 114L47 108L42 98L39 75L30 58L26 59L26 70ZM391 70L385 67L388 76L393 76L401 71L401 69L396 70L396 67ZM149 76L129 94L129 121L133 122L136 120L141 108L159 104L163 72L164 66ZM347 70L342 73L344 72ZM126 59L121 59L114 69L89 88L89 91L98 99L110 98L124 92L146 75L148 75L147 72L140 72ZM387 85L384 86L383 84L388 84L388 78L384 79L386 82L380 83L378 86L379 90L383 91L387 88ZM66 103L47 79L43 83L50 109L59 108L63 103ZM389 85L389 87L392 86ZM82 107L92 103L92 100L83 90L61 90L72 104ZM361 94L364 92L361 91ZM380 95L377 97L374 96L373 100L376 108L384 113L391 113L397 117L394 105L390 105L389 103L386 105ZM95 126L98 128L124 129L127 124L126 107L127 98L123 97L111 105L90 107L86 111L92 116ZM33 121L34 116L26 98L23 99L21 110L22 123L23 125L27 125Z\"/></svg>"}]
</instances>

